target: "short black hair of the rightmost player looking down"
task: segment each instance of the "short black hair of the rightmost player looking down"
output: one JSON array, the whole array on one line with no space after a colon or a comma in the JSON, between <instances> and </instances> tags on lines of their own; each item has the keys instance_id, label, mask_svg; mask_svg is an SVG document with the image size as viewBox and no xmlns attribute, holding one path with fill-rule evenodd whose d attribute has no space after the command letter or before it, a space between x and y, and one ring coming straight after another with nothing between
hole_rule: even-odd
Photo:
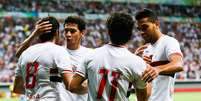
<instances>
[{"instance_id":1,"label":"short black hair of the rightmost player looking down","mask_svg":"<svg viewBox=\"0 0 201 101\"><path fill-rule=\"evenodd\" d=\"M137 12L135 15L136 20L141 20L146 17L148 17L148 19L152 22L158 20L156 13L154 11L152 11L151 9L147 9L147 8L143 9L142 11Z\"/></svg>"}]
</instances>

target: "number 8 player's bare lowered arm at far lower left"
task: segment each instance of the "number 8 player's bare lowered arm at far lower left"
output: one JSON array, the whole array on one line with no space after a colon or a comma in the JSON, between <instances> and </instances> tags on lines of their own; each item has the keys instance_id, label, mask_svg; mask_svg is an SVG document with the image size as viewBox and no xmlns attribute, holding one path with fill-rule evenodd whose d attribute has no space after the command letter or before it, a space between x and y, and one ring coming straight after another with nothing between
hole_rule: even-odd
<instances>
[{"instance_id":1,"label":"number 8 player's bare lowered arm at far lower left","mask_svg":"<svg viewBox=\"0 0 201 101\"><path fill-rule=\"evenodd\" d=\"M25 94L24 81L21 76L15 77L13 92L18 94Z\"/></svg>"}]
</instances>

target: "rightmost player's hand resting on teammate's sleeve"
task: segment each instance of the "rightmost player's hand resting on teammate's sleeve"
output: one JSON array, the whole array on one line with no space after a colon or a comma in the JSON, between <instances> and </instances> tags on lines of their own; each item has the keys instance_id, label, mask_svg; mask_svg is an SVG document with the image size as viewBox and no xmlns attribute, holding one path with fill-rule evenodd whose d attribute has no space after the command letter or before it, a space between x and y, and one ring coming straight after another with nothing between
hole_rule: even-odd
<instances>
[{"instance_id":1,"label":"rightmost player's hand resting on teammate's sleeve","mask_svg":"<svg viewBox=\"0 0 201 101\"><path fill-rule=\"evenodd\" d=\"M146 68L146 70L142 74L142 80L145 82L151 82L159 75L159 69L156 67L151 67L150 65Z\"/></svg>"}]
</instances>

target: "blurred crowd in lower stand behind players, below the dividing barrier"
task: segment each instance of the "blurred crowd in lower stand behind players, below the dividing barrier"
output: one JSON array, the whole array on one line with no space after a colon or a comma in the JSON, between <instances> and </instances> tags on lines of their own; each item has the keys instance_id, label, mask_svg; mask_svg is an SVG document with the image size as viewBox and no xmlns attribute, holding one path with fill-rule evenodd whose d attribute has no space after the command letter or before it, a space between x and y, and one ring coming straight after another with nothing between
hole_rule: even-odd
<instances>
[{"instance_id":1,"label":"blurred crowd in lower stand behind players, below the dividing barrier","mask_svg":"<svg viewBox=\"0 0 201 101\"><path fill-rule=\"evenodd\" d=\"M35 19L1 18L0 19L0 81L12 82L14 70L17 66L15 52L23 40L34 28ZM63 45L63 27L61 20L61 36ZM177 75L177 79L201 79L201 24L161 22L163 33L176 37L184 55L184 72ZM104 20L87 21L87 33L82 45L96 48L109 41ZM133 32L129 48L135 50L142 45L143 40L136 30Z\"/></svg>"}]
</instances>

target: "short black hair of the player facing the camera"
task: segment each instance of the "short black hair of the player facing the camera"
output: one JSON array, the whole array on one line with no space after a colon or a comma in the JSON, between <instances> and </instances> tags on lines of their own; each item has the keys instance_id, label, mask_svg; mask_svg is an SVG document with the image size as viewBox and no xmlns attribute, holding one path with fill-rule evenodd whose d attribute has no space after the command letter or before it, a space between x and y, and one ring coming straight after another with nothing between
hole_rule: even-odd
<instances>
[{"instance_id":1,"label":"short black hair of the player facing the camera","mask_svg":"<svg viewBox=\"0 0 201 101\"><path fill-rule=\"evenodd\" d=\"M82 18L80 18L80 17L78 17L78 16L68 16L68 17L65 19L65 21L64 21L64 27L65 27L65 25L68 24L68 23L77 24L77 25L78 25L78 29L79 29L80 31L83 31L83 30L86 29L86 22L85 22Z\"/></svg>"}]
</instances>

